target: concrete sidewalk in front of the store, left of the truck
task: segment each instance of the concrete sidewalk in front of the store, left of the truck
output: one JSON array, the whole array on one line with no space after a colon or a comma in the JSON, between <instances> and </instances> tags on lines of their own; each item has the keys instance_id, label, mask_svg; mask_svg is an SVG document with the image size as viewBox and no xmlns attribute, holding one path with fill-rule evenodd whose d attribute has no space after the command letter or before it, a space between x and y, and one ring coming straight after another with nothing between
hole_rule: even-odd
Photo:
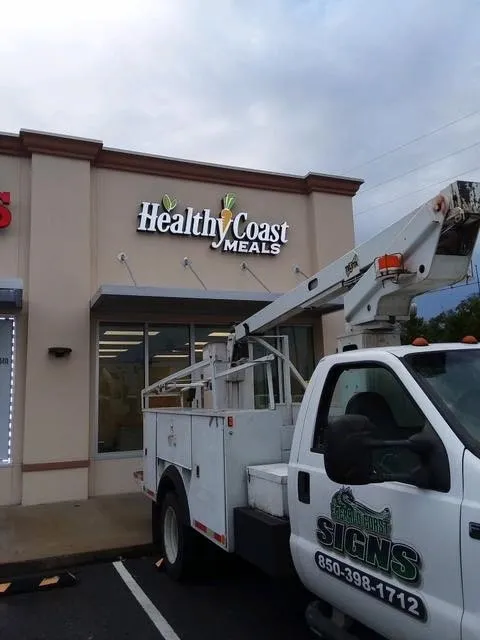
<instances>
[{"instance_id":1,"label":"concrete sidewalk in front of the store, left of the truck","mask_svg":"<svg viewBox=\"0 0 480 640\"><path fill-rule=\"evenodd\" d=\"M0 507L0 577L152 551L142 493Z\"/></svg>"}]
</instances>

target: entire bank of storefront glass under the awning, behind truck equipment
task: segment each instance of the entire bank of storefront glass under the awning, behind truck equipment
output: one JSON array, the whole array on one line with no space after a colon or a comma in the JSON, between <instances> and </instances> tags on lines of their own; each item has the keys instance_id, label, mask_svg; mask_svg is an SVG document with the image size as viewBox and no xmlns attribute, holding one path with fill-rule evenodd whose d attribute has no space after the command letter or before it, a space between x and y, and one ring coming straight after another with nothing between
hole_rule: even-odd
<instances>
[{"instance_id":1,"label":"entire bank of storefront glass under the awning, behind truck equipment","mask_svg":"<svg viewBox=\"0 0 480 640\"><path fill-rule=\"evenodd\" d=\"M203 347L209 341L226 343L229 325L163 325L163 324L100 324L98 344L98 452L114 453L141 451L143 448L143 421L141 391L172 373L203 359ZM272 329L271 336L288 335L290 357L302 376L309 380L315 367L313 330L310 326L287 326ZM191 344L193 341L193 345ZM280 347L276 337L268 342ZM253 355L258 358L267 352L254 345ZM148 368L145 364L148 362ZM254 370L255 407L268 406L266 370ZM283 401L282 368L273 367L275 401ZM193 374L196 379L197 374ZM177 383L190 382L185 377ZM304 390L291 377L292 397L300 402ZM188 393L183 401L188 406ZM164 393L149 398L149 407L177 407L178 393Z\"/></svg>"}]
</instances>

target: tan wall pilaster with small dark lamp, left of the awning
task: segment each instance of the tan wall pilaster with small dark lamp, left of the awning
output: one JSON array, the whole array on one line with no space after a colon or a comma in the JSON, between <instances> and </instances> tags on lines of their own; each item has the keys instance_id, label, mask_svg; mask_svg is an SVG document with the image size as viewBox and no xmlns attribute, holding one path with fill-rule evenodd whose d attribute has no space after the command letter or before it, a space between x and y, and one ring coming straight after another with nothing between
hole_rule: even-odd
<instances>
[{"instance_id":1,"label":"tan wall pilaster with small dark lamp, left of the awning","mask_svg":"<svg viewBox=\"0 0 480 640\"><path fill-rule=\"evenodd\" d=\"M33 155L23 462L89 457L90 164ZM51 358L49 346L73 349ZM54 478L62 478L55 482ZM83 469L29 472L23 502L87 497Z\"/></svg>"}]
</instances>

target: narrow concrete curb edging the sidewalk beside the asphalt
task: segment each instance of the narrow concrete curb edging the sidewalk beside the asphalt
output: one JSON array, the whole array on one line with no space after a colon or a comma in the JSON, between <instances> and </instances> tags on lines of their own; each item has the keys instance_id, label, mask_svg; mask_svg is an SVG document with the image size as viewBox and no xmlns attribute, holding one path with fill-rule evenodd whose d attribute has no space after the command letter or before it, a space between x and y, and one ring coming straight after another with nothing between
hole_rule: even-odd
<instances>
[{"instance_id":1,"label":"narrow concrete curb edging the sidewalk beside the asphalt","mask_svg":"<svg viewBox=\"0 0 480 640\"><path fill-rule=\"evenodd\" d=\"M134 545L129 547L117 547L114 549L100 549L97 551L84 551L62 556L52 556L21 562L9 562L0 565L0 581L8 582L20 577L32 576L52 572L58 569L69 569L97 562L113 562L114 560L140 558L151 554L155 547L153 544Z\"/></svg>"}]
</instances>

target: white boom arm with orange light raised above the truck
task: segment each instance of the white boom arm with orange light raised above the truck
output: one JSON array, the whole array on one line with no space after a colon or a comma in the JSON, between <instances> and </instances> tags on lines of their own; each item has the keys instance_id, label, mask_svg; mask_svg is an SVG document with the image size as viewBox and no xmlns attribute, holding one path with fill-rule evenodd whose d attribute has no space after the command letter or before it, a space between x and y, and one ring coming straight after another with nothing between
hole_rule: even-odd
<instances>
[{"instance_id":1,"label":"white boom arm with orange light raised above the truck","mask_svg":"<svg viewBox=\"0 0 480 640\"><path fill-rule=\"evenodd\" d=\"M415 296L466 276L479 222L480 183L454 182L238 324L232 342L263 333L305 309L325 307L341 296L350 327L391 327L409 317Z\"/></svg>"}]
</instances>

